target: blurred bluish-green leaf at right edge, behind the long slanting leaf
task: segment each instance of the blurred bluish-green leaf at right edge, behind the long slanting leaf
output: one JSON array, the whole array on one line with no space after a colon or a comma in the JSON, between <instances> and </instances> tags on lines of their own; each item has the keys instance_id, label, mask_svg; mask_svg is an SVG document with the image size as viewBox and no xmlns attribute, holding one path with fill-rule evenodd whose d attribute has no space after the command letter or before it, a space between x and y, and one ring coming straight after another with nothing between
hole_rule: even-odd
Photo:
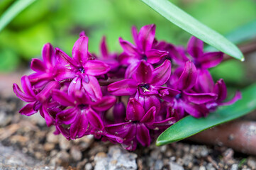
<instances>
[{"instance_id":1,"label":"blurred bluish-green leaf at right edge, behind the long slanting leaf","mask_svg":"<svg viewBox=\"0 0 256 170\"><path fill-rule=\"evenodd\" d=\"M256 20L240 26L239 28L225 35L225 37L235 44L256 38ZM204 50L213 51L215 49L211 46L208 46L205 47Z\"/></svg>"}]
</instances>

